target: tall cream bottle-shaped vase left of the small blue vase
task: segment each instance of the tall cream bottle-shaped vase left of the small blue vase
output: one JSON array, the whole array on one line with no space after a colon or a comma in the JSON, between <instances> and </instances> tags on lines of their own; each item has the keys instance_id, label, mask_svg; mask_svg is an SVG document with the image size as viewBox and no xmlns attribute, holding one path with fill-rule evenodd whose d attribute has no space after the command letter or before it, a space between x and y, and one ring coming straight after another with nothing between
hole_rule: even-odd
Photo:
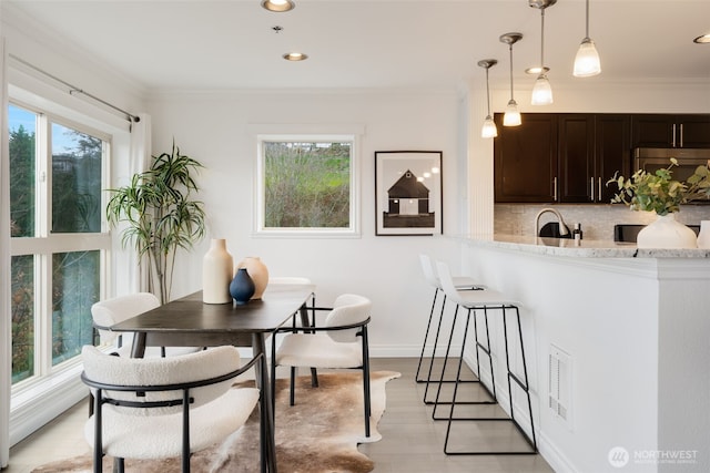
<instances>
[{"instance_id":1,"label":"tall cream bottle-shaped vase left of the small blue vase","mask_svg":"<svg viewBox=\"0 0 710 473\"><path fill-rule=\"evenodd\" d=\"M226 250L224 238L214 238L202 259L202 301L204 304L227 304L232 301L230 282L234 259Z\"/></svg>"}]
</instances>

